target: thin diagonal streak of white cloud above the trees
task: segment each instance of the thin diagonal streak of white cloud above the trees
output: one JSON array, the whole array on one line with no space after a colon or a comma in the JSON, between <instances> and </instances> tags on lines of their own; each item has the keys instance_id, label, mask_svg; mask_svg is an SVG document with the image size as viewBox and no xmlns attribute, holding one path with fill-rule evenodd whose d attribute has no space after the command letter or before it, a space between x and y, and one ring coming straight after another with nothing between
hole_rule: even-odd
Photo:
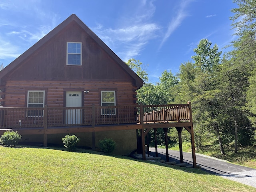
<instances>
[{"instance_id":1,"label":"thin diagonal streak of white cloud above the trees","mask_svg":"<svg viewBox=\"0 0 256 192\"><path fill-rule=\"evenodd\" d=\"M191 2L191 0L183 0L180 2L178 7L176 8L178 10L178 12L172 18L170 24L168 25L168 29L164 35L164 38L162 39L159 49L163 46L163 44L170 37L170 35L181 25L182 21L188 16L188 14L186 12L186 7L188 6L188 4L190 2Z\"/></svg>"}]
</instances>

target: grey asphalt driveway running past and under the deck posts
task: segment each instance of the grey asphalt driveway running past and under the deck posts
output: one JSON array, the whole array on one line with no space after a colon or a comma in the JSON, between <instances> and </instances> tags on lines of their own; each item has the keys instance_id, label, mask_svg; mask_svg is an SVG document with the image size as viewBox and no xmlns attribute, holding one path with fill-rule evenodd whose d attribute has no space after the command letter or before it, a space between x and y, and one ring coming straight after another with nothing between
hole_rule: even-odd
<instances>
[{"instance_id":1,"label":"grey asphalt driveway running past and under the deck posts","mask_svg":"<svg viewBox=\"0 0 256 192\"><path fill-rule=\"evenodd\" d=\"M149 148L150 155L155 156L155 148ZM180 152L169 150L169 161L180 163ZM166 150L158 148L158 157L166 160ZM184 163L193 165L192 153L183 152ZM196 154L196 164L201 166L201 170L211 174L222 176L256 188L256 169L240 165L231 164L225 160L212 158L202 154Z\"/></svg>"}]
</instances>

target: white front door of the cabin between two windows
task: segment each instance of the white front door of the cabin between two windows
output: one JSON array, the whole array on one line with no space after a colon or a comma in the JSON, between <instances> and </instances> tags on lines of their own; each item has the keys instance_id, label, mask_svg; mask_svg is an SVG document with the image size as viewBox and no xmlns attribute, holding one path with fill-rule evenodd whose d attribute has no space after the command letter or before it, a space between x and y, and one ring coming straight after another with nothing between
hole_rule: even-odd
<instances>
[{"instance_id":1,"label":"white front door of the cabin between two windows","mask_svg":"<svg viewBox=\"0 0 256 192\"><path fill-rule=\"evenodd\" d=\"M82 93L80 91L66 92L66 107L81 107ZM66 124L81 124L82 110L81 109L67 109L66 110Z\"/></svg>"}]
</instances>

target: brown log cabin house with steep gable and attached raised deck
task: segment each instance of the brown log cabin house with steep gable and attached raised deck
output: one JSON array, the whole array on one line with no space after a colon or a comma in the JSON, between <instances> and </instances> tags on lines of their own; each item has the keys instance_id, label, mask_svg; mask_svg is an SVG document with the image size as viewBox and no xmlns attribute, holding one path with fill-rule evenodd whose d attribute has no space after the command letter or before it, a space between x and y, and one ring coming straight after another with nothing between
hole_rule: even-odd
<instances>
[{"instance_id":1,"label":"brown log cabin house with steep gable and attached raised deck","mask_svg":"<svg viewBox=\"0 0 256 192\"><path fill-rule=\"evenodd\" d=\"M138 105L136 90L142 86L143 80L72 14L0 71L0 135L14 130L23 142L47 146L76 134L80 146L94 150L109 137L117 143L115 153L129 154L137 148L136 130L144 146L152 128L176 127L180 144L185 128L195 166L190 103Z\"/></svg>"}]
</instances>

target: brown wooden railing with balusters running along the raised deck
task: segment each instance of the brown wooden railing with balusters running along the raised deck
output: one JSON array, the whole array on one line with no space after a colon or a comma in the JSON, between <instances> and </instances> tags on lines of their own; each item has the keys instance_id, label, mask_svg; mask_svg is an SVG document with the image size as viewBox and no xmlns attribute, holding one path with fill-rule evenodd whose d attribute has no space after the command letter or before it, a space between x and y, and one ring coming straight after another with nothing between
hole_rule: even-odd
<instances>
[{"instance_id":1,"label":"brown wooden railing with balusters running along the raised deck","mask_svg":"<svg viewBox=\"0 0 256 192\"><path fill-rule=\"evenodd\" d=\"M0 129L189 122L191 114L189 105L2 107Z\"/></svg>"}]
</instances>

